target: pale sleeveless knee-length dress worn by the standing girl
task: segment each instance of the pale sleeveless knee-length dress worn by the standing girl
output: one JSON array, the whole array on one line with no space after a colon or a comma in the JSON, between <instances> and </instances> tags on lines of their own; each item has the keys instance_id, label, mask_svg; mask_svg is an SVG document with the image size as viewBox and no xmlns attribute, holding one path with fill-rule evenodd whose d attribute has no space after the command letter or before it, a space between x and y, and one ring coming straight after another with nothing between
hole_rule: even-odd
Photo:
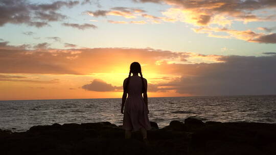
<instances>
[{"instance_id":1,"label":"pale sleeveless knee-length dress worn by the standing girl","mask_svg":"<svg viewBox=\"0 0 276 155\"><path fill-rule=\"evenodd\" d=\"M138 75L131 76L128 83L128 96L125 102L123 128L137 131L141 127L151 128L147 107L142 97L142 79Z\"/></svg>"}]
</instances>

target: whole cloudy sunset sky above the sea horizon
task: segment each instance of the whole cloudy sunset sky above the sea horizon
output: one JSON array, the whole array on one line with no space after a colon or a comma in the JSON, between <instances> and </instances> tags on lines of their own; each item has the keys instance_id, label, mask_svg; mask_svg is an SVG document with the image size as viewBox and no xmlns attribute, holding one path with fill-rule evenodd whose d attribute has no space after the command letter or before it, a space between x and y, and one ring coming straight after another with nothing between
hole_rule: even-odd
<instances>
[{"instance_id":1,"label":"whole cloudy sunset sky above the sea horizon","mask_svg":"<svg viewBox=\"0 0 276 155\"><path fill-rule=\"evenodd\" d=\"M276 94L275 0L0 0L0 100Z\"/></svg>"}]
</instances>

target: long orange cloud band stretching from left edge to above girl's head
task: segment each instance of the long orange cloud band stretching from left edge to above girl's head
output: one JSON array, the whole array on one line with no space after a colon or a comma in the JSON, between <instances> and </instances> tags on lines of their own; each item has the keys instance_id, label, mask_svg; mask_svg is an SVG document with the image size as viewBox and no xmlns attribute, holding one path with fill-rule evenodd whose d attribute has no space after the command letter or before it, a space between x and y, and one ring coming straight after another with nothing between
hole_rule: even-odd
<instances>
[{"instance_id":1,"label":"long orange cloud band stretching from left edge to above girl's head","mask_svg":"<svg viewBox=\"0 0 276 155\"><path fill-rule=\"evenodd\" d=\"M9 46L6 44L6 46ZM40 43L35 50L0 48L0 73L89 74L118 71L132 61L155 64L158 60L180 59L181 53L139 48L49 49ZM145 59L145 55L147 58ZM120 57L121 56L121 57ZM108 62L106 61L108 60Z\"/></svg>"}]
</instances>

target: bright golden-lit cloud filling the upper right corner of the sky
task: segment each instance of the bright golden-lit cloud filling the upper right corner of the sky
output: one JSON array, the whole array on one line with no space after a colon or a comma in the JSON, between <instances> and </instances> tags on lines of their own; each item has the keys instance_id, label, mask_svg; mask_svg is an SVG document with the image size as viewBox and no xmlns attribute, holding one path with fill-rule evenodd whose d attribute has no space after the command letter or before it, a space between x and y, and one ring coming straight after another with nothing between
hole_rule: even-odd
<instances>
[{"instance_id":1,"label":"bright golden-lit cloud filling the upper right corner of the sky","mask_svg":"<svg viewBox=\"0 0 276 155\"><path fill-rule=\"evenodd\" d=\"M217 1L181 1L181 0L133 0L140 3L158 3L171 6L162 14L165 17L157 17L166 22L181 21L190 23L197 33L206 33L209 37L236 38L248 42L275 43L273 34L256 33L252 30L231 30L232 23L241 21L276 21L276 1L244 1L244 0L217 0ZM147 14L145 18L154 18ZM152 21L159 23L160 20ZM200 28L198 28L200 27ZM227 28L229 27L229 28ZM203 32L203 29L205 30ZM206 31L209 29L208 31ZM218 30L220 29L220 30ZM272 28L257 28L265 32L276 30ZM226 35L221 35L223 32Z\"/></svg>"}]
</instances>

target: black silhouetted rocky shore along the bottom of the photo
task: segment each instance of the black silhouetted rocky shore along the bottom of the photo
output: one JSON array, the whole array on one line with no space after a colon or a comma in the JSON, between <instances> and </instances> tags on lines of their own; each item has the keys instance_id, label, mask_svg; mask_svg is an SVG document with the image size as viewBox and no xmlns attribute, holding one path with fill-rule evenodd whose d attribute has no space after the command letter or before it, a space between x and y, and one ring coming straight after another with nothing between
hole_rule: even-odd
<instances>
[{"instance_id":1,"label":"black silhouetted rocky shore along the bottom of the photo","mask_svg":"<svg viewBox=\"0 0 276 155\"><path fill-rule=\"evenodd\" d=\"M124 139L110 122L33 126L27 132L0 130L0 154L276 154L276 124L206 122L187 118Z\"/></svg>"}]
</instances>

